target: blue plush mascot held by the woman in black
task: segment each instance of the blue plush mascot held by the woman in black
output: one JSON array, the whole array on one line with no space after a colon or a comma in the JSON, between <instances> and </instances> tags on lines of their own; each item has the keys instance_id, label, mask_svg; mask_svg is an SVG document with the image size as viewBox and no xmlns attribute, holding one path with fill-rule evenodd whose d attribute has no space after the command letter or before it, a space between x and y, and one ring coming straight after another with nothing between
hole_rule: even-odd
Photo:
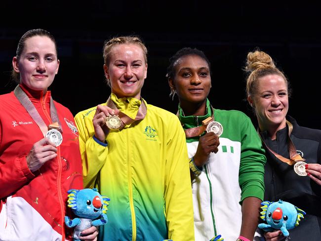
<instances>
[{"instance_id":1,"label":"blue plush mascot held by the woman in black","mask_svg":"<svg viewBox=\"0 0 321 241\"><path fill-rule=\"evenodd\" d=\"M293 229L299 225L301 218L304 218L305 211L294 206L287 201L261 202L261 219L267 222L260 223L258 227L266 232L272 232L274 230L281 230L284 237L289 236L287 230Z\"/></svg>"}]
</instances>

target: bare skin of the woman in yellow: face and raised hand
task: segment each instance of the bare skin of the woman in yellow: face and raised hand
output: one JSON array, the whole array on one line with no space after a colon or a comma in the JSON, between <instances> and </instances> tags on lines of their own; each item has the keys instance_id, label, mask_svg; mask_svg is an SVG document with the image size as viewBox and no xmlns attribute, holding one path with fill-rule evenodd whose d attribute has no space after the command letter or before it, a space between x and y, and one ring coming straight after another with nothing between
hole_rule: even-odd
<instances>
[{"instance_id":1,"label":"bare skin of the woman in yellow: face and raised hand","mask_svg":"<svg viewBox=\"0 0 321 241\"><path fill-rule=\"evenodd\" d=\"M110 60L104 64L105 77L110 80L112 92L118 97L134 97L140 99L141 89L147 77L145 54L138 44L123 43L112 47ZM93 117L95 137L105 142L109 129L105 119L110 115L118 115L105 105L98 105Z\"/></svg>"}]
</instances>

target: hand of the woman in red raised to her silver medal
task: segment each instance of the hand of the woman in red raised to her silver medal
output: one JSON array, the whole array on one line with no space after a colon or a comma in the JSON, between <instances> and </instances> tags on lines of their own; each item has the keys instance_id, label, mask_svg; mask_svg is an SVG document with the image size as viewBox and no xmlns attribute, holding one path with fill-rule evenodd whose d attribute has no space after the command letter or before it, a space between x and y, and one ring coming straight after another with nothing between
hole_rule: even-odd
<instances>
[{"instance_id":1,"label":"hand of the woman in red raised to her silver medal","mask_svg":"<svg viewBox=\"0 0 321 241\"><path fill-rule=\"evenodd\" d=\"M37 171L45 162L50 161L57 157L57 148L55 144L42 138L36 142L27 156L27 165L29 169L34 172Z\"/></svg>"}]
</instances>

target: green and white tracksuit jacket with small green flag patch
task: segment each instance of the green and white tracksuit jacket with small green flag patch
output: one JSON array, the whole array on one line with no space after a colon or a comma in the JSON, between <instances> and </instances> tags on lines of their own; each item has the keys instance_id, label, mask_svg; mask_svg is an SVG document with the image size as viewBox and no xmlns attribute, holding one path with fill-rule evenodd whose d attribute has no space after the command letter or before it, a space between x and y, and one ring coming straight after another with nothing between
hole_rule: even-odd
<instances>
[{"instance_id":1,"label":"green and white tracksuit jacket with small green flag patch","mask_svg":"<svg viewBox=\"0 0 321 241\"><path fill-rule=\"evenodd\" d=\"M209 101L205 116L183 115L184 129L201 125L212 115ZM241 202L247 197L263 200L265 153L250 119L240 111L214 109L214 120L223 126L219 151L211 153L200 176L192 182L195 240L208 241L217 234L235 241L241 231ZM186 139L189 158L194 157L199 137Z\"/></svg>"}]
</instances>

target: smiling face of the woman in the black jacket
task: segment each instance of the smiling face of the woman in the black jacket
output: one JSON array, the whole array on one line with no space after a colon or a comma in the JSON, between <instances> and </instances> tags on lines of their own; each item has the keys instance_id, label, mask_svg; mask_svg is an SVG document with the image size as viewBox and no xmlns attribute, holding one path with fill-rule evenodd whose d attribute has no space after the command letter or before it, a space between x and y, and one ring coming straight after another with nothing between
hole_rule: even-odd
<instances>
[{"instance_id":1,"label":"smiling face of the woman in the black jacket","mask_svg":"<svg viewBox=\"0 0 321 241\"><path fill-rule=\"evenodd\" d=\"M258 80L256 93L248 97L255 109L260 129L276 132L285 127L288 111L288 92L285 80L279 75L267 75Z\"/></svg>"}]
</instances>

